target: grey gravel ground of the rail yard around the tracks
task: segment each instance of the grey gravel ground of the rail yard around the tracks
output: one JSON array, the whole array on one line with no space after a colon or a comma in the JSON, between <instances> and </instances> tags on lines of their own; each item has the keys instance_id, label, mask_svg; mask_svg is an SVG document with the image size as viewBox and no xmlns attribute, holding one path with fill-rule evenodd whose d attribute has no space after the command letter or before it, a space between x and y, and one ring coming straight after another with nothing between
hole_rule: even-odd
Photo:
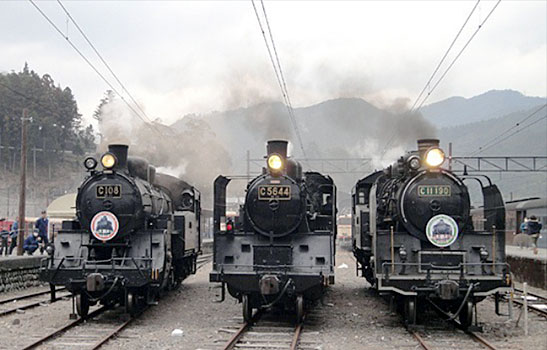
<instances>
[{"instance_id":1,"label":"grey gravel ground of the rail yard around the tracks","mask_svg":"<svg viewBox=\"0 0 547 350\"><path fill-rule=\"evenodd\" d=\"M302 347L322 350L357 349L419 349L416 339L405 329L401 317L389 310L389 303L368 290L362 278L355 275L355 261L351 252L339 250L337 255L336 284L329 289L324 305L319 305L313 317L304 324ZM347 266L347 268L338 268ZM215 303L218 290L209 284L210 263L183 282L178 291L168 294L158 306L151 307L118 337L108 341L102 349L221 349L241 321L241 307L230 297L224 303ZM34 291L25 290L25 293ZM538 293L541 291L534 290ZM18 292L21 294L21 292ZM1 299L15 296L4 293ZM545 294L545 291L543 291ZM40 298L46 300L47 296ZM28 303L35 301L29 300ZM21 304L27 301L21 301ZM44 304L24 313L13 313L0 318L0 349L20 349L53 329L69 323L69 300ZM506 310L504 310L506 311ZM496 316L494 303L487 299L479 304L479 322L484 324L482 336L498 349L547 349L547 319L529 312L529 336L515 327L520 309L515 307L515 320ZM481 349L468 335L439 317L427 315L426 329L420 334L434 349ZM112 320L99 317L90 320L90 330L112 328ZM86 325L84 325L85 327ZM182 336L172 336L174 329ZM82 330L73 336L64 336L43 345L43 349L85 348L89 337ZM317 345L320 344L320 345Z\"/></svg>"}]
</instances>

